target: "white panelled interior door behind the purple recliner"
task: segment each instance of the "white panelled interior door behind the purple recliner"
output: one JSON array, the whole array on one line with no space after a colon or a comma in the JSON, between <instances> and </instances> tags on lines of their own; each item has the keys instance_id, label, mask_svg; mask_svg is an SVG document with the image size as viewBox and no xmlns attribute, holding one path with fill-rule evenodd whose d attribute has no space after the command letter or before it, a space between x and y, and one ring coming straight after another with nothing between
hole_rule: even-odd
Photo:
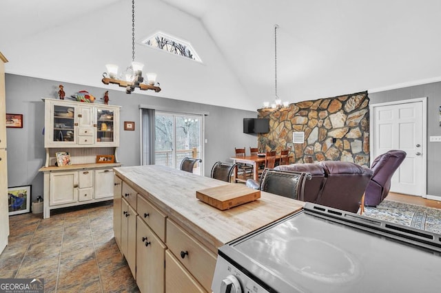
<instances>
[{"instance_id":1,"label":"white panelled interior door behind the purple recliner","mask_svg":"<svg viewBox=\"0 0 441 293\"><path fill-rule=\"evenodd\" d=\"M407 153L392 192L426 197L425 105L425 98L371 105L371 162L392 149Z\"/></svg>"}]
</instances>

